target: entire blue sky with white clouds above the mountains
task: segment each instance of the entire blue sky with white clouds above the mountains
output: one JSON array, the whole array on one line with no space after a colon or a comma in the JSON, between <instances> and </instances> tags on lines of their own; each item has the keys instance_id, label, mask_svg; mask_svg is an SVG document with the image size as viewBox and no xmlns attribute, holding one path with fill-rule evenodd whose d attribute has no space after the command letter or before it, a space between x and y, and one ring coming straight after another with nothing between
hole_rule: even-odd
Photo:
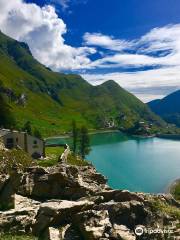
<instances>
[{"instance_id":1,"label":"entire blue sky with white clouds above the mountains","mask_svg":"<svg viewBox=\"0 0 180 240\"><path fill-rule=\"evenodd\" d=\"M0 30L54 71L142 101L180 89L179 0L0 0Z\"/></svg>"}]
</instances>

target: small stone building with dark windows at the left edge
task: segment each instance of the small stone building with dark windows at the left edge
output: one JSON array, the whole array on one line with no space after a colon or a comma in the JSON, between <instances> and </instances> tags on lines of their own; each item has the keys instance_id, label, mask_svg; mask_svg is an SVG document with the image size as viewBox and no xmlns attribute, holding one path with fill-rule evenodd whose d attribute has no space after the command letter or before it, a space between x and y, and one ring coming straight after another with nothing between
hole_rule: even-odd
<instances>
[{"instance_id":1,"label":"small stone building with dark windows at the left edge","mask_svg":"<svg viewBox=\"0 0 180 240\"><path fill-rule=\"evenodd\" d=\"M31 136L26 132L0 129L0 138L8 149L19 148L33 158L45 157L45 143L42 139Z\"/></svg>"}]
</instances>

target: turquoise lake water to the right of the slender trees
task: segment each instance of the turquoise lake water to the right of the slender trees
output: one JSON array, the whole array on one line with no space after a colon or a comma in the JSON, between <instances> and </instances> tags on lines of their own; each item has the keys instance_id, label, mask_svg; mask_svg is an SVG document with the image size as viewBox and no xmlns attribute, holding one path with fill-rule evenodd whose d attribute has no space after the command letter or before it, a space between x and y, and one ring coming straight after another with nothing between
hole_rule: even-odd
<instances>
[{"instance_id":1,"label":"turquoise lake water to the right of the slender trees","mask_svg":"<svg viewBox=\"0 0 180 240\"><path fill-rule=\"evenodd\" d=\"M180 178L180 141L101 133L91 148L87 159L114 189L162 193Z\"/></svg>"}]
</instances>

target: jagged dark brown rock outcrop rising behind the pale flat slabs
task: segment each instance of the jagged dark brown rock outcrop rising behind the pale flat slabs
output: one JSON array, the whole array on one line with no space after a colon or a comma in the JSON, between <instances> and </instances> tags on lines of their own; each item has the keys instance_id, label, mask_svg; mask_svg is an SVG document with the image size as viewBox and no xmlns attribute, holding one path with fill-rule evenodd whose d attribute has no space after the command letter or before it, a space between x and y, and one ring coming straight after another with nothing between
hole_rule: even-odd
<instances>
[{"instance_id":1,"label":"jagged dark brown rock outcrop rising behind the pale flat slabs","mask_svg":"<svg viewBox=\"0 0 180 240\"><path fill-rule=\"evenodd\" d=\"M17 188L17 186L15 186ZM78 200L109 189L106 179L93 167L61 164L52 168L31 167L22 174L17 192L30 198Z\"/></svg>"}]
</instances>

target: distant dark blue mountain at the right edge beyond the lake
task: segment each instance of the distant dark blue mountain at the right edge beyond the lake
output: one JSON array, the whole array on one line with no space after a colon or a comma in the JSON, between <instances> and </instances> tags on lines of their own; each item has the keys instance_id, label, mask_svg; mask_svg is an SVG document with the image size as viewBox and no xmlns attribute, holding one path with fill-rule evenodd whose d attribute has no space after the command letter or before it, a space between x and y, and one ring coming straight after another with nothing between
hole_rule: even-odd
<instances>
[{"instance_id":1,"label":"distant dark blue mountain at the right edge beyond the lake","mask_svg":"<svg viewBox=\"0 0 180 240\"><path fill-rule=\"evenodd\" d=\"M171 93L161 100L151 101L148 103L148 106L165 121L180 127L180 90Z\"/></svg>"}]
</instances>

